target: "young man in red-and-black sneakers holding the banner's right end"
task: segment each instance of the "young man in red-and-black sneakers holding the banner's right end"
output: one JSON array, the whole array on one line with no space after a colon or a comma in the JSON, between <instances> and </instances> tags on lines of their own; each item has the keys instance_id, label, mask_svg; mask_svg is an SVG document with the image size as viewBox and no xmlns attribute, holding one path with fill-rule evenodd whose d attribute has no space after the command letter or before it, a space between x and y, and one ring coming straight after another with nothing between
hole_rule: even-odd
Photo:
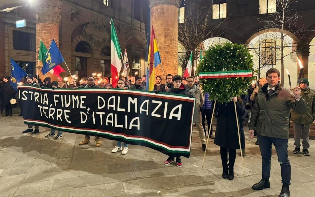
<instances>
[{"instance_id":1,"label":"young man in red-and-black sneakers holding the banner's right end","mask_svg":"<svg viewBox=\"0 0 315 197\"><path fill-rule=\"evenodd\" d=\"M180 94L180 95L187 95L185 85L181 83L182 78L180 75L175 75L173 77L173 86L167 90L166 92L168 93L173 93L173 94ZM157 93L157 92L156 92ZM164 161L164 165L169 165L175 161L174 157L169 156ZM176 166L177 167L182 167L183 163L181 162L180 157L176 157Z\"/></svg>"}]
</instances>

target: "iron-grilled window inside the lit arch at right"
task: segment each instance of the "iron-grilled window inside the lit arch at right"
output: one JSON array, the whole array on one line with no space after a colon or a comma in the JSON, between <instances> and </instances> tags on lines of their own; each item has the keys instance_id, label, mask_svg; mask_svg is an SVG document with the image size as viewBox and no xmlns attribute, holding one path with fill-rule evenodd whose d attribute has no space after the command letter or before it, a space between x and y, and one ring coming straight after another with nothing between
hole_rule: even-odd
<instances>
[{"instance_id":1,"label":"iron-grilled window inside the lit arch at right","mask_svg":"<svg viewBox=\"0 0 315 197\"><path fill-rule=\"evenodd\" d=\"M266 39L262 41L261 64L262 65L275 65L276 64L276 41L275 40Z\"/></svg>"}]
</instances>

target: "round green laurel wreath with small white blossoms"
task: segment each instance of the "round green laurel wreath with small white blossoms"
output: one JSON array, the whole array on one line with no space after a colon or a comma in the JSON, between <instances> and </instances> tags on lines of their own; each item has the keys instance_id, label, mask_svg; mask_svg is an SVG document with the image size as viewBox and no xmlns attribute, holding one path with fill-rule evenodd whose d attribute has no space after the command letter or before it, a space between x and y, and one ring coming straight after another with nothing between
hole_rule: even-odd
<instances>
[{"instance_id":1,"label":"round green laurel wreath with small white blossoms","mask_svg":"<svg viewBox=\"0 0 315 197\"><path fill-rule=\"evenodd\" d=\"M206 78L199 79L203 92L209 93L209 100L220 103L230 102L232 97L247 94L247 89L255 80L254 64L249 49L240 44L226 42L217 44L205 51L203 59L197 67L199 72L222 72L252 70L252 77Z\"/></svg>"}]
</instances>

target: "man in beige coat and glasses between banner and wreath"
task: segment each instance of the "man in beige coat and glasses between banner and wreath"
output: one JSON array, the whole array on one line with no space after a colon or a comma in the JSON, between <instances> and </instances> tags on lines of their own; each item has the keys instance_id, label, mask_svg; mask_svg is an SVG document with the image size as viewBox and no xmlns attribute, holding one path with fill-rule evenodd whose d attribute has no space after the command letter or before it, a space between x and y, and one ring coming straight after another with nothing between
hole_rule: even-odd
<instances>
[{"instance_id":1,"label":"man in beige coat and glasses between banner and wreath","mask_svg":"<svg viewBox=\"0 0 315 197\"><path fill-rule=\"evenodd\" d=\"M206 150L206 136L203 131L203 127L201 123L201 112L200 112L200 108L204 103L204 96L203 96L202 90L200 90L200 88L196 86L195 78L192 76L187 77L186 93L189 97L193 96L196 99L193 122L196 123L197 129L199 132L199 137L202 143L202 150L205 151Z\"/></svg>"}]
</instances>

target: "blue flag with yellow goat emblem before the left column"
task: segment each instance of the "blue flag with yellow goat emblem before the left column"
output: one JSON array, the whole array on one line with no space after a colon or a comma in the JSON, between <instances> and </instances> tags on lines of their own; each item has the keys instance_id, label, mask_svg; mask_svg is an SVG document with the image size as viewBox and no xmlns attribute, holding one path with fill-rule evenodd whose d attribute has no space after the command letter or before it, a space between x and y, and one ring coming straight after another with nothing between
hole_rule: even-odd
<instances>
[{"instance_id":1,"label":"blue flag with yellow goat emblem before the left column","mask_svg":"<svg viewBox=\"0 0 315 197\"><path fill-rule=\"evenodd\" d=\"M43 75L64 61L65 60L63 59L60 50L58 49L57 44L53 39L51 41L49 50L47 51L46 60L43 61L42 68Z\"/></svg>"}]
</instances>

